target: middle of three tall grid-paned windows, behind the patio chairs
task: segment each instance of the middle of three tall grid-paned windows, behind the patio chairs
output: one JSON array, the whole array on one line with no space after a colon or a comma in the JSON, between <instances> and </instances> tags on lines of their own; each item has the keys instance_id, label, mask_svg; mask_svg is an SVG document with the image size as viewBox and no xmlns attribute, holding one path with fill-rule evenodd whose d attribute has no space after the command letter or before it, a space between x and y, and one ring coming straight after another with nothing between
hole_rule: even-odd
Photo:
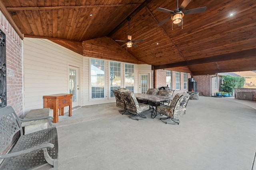
<instances>
[{"instance_id":1,"label":"middle of three tall grid-paned windows, behind the patio chairs","mask_svg":"<svg viewBox=\"0 0 256 170\"><path fill-rule=\"evenodd\" d=\"M109 62L109 74L110 74L110 98L114 98L112 90L121 88L121 63Z\"/></svg>"}]
</instances>

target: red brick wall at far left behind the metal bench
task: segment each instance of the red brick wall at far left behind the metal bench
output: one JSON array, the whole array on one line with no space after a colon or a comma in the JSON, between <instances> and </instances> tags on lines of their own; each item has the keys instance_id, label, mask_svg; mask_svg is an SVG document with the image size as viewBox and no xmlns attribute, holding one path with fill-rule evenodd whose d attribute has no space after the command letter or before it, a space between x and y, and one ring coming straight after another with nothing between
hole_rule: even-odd
<instances>
[{"instance_id":1,"label":"red brick wall at far left behind the metal bench","mask_svg":"<svg viewBox=\"0 0 256 170\"><path fill-rule=\"evenodd\" d=\"M0 11L0 29L6 34L7 106L23 113L22 39Z\"/></svg>"}]
</instances>

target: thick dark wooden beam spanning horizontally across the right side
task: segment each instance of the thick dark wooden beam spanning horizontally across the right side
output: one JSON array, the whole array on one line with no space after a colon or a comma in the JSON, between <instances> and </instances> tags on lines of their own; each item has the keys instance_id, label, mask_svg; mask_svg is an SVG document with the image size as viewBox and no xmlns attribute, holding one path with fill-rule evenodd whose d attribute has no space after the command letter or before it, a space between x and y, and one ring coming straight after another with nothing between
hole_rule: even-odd
<instances>
[{"instance_id":1,"label":"thick dark wooden beam spanning horizontally across the right side","mask_svg":"<svg viewBox=\"0 0 256 170\"><path fill-rule=\"evenodd\" d=\"M248 59L248 58L256 58L256 49L249 49L249 50L238 51L234 53L206 57L202 59L194 59L190 61L182 61L178 63L156 65L154 66L154 69L172 68L172 67L180 67L180 66L192 66L192 65L200 65L200 64L215 63L215 62L229 61L229 60L235 60L235 59Z\"/></svg>"}]
</instances>

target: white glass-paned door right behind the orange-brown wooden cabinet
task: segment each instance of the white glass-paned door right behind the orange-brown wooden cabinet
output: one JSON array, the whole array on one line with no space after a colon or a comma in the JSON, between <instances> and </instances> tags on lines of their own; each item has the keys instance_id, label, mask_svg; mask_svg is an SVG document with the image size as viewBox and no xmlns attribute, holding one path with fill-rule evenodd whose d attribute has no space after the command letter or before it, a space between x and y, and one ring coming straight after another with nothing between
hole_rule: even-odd
<instances>
[{"instance_id":1,"label":"white glass-paned door right behind the orange-brown wooden cabinet","mask_svg":"<svg viewBox=\"0 0 256 170\"><path fill-rule=\"evenodd\" d=\"M78 68L69 68L69 93L72 94L72 107L79 106L79 84L78 84Z\"/></svg>"}]
</instances>

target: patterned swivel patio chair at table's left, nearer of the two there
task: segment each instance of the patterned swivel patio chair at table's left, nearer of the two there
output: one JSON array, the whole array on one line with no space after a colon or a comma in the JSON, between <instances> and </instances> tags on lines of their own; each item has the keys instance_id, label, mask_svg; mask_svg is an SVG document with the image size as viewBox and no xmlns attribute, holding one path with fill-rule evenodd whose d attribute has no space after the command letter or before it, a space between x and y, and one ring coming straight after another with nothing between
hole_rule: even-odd
<instances>
[{"instance_id":1,"label":"patterned swivel patio chair at table's left, nearer of the two there","mask_svg":"<svg viewBox=\"0 0 256 170\"><path fill-rule=\"evenodd\" d=\"M138 103L133 92L122 92L121 95L124 99L126 110L129 113L132 113L132 115L130 115L129 118L135 119L135 120L140 120L140 118L142 119L147 118L145 115L142 115L141 113L150 109L149 104Z\"/></svg>"}]
</instances>

